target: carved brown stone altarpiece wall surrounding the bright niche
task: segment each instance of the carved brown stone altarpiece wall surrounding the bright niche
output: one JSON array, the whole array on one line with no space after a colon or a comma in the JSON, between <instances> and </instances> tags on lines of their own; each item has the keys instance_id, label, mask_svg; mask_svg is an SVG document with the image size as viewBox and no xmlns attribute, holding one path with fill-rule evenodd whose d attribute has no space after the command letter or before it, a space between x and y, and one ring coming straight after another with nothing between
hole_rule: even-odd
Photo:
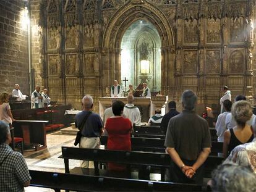
<instances>
[{"instance_id":1,"label":"carved brown stone altarpiece wall surrounding the bright niche","mask_svg":"<svg viewBox=\"0 0 256 192\"><path fill-rule=\"evenodd\" d=\"M127 27L147 20L160 36L161 92L169 99L189 88L200 103L218 103L223 85L233 96L252 95L254 6L250 0L42 0L40 78L53 100L77 108L84 94L98 101L114 79L121 82Z\"/></svg>"}]
</instances>

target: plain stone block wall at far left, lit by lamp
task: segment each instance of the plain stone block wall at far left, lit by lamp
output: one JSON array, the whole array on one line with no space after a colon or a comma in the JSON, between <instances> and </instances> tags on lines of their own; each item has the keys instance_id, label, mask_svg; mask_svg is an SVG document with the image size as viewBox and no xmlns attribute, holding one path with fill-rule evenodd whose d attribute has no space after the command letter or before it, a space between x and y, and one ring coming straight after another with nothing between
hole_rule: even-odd
<instances>
[{"instance_id":1,"label":"plain stone block wall at far left, lit by lamp","mask_svg":"<svg viewBox=\"0 0 256 192\"><path fill-rule=\"evenodd\" d=\"M29 93L28 31L24 26L23 1L0 1L0 93L11 94L19 83Z\"/></svg>"}]
</instances>

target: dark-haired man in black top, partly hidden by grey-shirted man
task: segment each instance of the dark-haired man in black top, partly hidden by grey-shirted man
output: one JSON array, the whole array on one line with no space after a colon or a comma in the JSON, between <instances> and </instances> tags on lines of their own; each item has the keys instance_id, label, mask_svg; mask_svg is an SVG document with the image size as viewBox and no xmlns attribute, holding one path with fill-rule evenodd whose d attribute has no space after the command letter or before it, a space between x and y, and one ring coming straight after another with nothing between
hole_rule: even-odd
<instances>
[{"instance_id":1,"label":"dark-haired man in black top, partly hidden by grey-shirted man","mask_svg":"<svg viewBox=\"0 0 256 192\"><path fill-rule=\"evenodd\" d=\"M166 134L166 130L168 127L169 120L179 114L179 112L176 111L176 102L170 101L168 103L169 112L163 116L163 120L161 122L161 131L162 133Z\"/></svg>"}]
</instances>

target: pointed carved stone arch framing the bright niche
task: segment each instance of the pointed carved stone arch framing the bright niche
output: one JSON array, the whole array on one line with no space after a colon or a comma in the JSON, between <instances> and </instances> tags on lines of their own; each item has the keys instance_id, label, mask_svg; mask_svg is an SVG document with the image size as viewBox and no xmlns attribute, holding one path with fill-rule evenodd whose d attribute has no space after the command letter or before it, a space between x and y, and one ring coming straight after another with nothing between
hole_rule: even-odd
<instances>
[{"instance_id":1,"label":"pointed carved stone arch framing the bright niche","mask_svg":"<svg viewBox=\"0 0 256 192\"><path fill-rule=\"evenodd\" d=\"M168 19L161 13L161 10L147 1L127 1L119 11L114 13L106 25L101 51L101 67L103 72L101 85L104 89L107 86L111 86L115 79L122 83L122 38L127 28L138 20L145 20L151 23L158 32L161 42L161 75L159 77L161 92L166 95L170 90L174 92L176 80L173 75L175 68L173 31L171 30Z\"/></svg>"}]
</instances>

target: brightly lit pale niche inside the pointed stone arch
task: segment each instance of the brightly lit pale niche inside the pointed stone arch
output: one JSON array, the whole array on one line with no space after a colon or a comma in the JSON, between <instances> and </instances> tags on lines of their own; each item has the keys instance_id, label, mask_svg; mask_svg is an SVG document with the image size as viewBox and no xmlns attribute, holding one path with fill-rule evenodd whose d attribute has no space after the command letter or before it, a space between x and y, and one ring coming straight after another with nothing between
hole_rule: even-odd
<instances>
[{"instance_id":1,"label":"brightly lit pale niche inside the pointed stone arch","mask_svg":"<svg viewBox=\"0 0 256 192\"><path fill-rule=\"evenodd\" d=\"M161 39L155 26L137 20L121 41L121 79L135 87L148 83L151 91L161 90Z\"/></svg>"}]
</instances>

